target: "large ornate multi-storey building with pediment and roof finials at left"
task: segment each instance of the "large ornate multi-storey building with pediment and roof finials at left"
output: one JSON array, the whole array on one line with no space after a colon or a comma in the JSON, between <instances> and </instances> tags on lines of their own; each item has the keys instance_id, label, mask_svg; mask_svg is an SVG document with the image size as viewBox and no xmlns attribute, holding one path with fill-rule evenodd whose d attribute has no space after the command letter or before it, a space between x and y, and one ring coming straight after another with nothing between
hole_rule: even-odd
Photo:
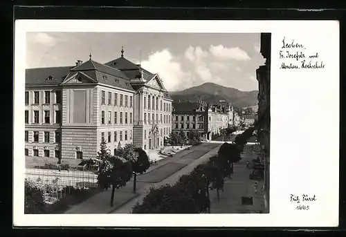
<instances>
[{"instance_id":1,"label":"large ornate multi-storey building with pediment and roof finials at left","mask_svg":"<svg viewBox=\"0 0 346 237\"><path fill-rule=\"evenodd\" d=\"M133 143L157 149L170 133L172 99L157 74L123 56L100 64L26 70L28 156L95 158L104 140L113 154Z\"/></svg>"}]
</instances>

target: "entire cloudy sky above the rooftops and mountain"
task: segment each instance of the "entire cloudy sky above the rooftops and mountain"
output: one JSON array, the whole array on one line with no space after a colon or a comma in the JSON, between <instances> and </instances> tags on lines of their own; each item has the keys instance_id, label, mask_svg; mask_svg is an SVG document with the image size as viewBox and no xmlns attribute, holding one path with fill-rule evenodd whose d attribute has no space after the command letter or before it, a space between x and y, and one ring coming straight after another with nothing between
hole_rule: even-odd
<instances>
[{"instance_id":1,"label":"entire cloudy sky above the rooftops and mountain","mask_svg":"<svg viewBox=\"0 0 346 237\"><path fill-rule=\"evenodd\" d=\"M264 64L260 34L28 32L26 67L74 66L78 59L102 64L120 57L158 73L167 91L206 82L258 90L256 69Z\"/></svg>"}]
</instances>

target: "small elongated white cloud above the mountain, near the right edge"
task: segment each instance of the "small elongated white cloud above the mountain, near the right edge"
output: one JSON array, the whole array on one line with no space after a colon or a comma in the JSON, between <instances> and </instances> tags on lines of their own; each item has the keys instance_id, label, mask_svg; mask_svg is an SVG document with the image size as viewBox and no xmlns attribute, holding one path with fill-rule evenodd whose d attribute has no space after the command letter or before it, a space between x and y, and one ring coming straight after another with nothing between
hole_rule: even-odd
<instances>
[{"instance_id":1,"label":"small elongated white cloud above the mountain, near the right edge","mask_svg":"<svg viewBox=\"0 0 346 237\"><path fill-rule=\"evenodd\" d=\"M209 50L212 55L219 59L235 59L238 61L247 61L251 59L248 53L239 47L226 48L220 44L219 46L210 46Z\"/></svg>"}]
</instances>

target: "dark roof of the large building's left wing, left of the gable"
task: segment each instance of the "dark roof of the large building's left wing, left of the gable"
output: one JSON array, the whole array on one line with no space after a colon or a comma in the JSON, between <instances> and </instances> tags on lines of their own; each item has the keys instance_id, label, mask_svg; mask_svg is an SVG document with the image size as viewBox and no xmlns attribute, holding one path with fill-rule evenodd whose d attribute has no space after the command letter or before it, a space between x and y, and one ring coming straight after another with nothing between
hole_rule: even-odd
<instances>
[{"instance_id":1,"label":"dark roof of the large building's left wing, left of the gable","mask_svg":"<svg viewBox=\"0 0 346 237\"><path fill-rule=\"evenodd\" d=\"M26 69L26 84L60 84L73 66ZM52 79L48 79L51 76Z\"/></svg>"}]
</instances>

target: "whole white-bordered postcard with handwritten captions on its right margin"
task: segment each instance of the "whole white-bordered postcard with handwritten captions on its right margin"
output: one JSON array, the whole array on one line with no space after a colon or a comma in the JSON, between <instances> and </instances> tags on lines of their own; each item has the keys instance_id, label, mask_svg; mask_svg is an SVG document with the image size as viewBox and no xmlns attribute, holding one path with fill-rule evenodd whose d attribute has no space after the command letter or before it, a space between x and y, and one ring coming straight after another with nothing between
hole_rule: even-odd
<instances>
[{"instance_id":1,"label":"whole white-bordered postcard with handwritten captions on its right margin","mask_svg":"<svg viewBox=\"0 0 346 237\"><path fill-rule=\"evenodd\" d=\"M338 55L338 21L16 21L14 225L337 226Z\"/></svg>"}]
</instances>

